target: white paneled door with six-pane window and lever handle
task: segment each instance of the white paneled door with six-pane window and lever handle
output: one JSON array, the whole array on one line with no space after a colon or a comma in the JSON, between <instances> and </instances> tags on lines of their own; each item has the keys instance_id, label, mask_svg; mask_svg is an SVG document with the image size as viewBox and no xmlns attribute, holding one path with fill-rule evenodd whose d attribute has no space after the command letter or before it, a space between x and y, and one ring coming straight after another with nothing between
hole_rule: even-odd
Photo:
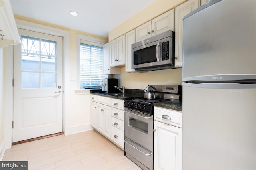
<instances>
[{"instance_id":1,"label":"white paneled door with six-pane window and lever handle","mask_svg":"<svg viewBox=\"0 0 256 170\"><path fill-rule=\"evenodd\" d=\"M13 142L62 132L62 37L18 31Z\"/></svg>"}]
</instances>

